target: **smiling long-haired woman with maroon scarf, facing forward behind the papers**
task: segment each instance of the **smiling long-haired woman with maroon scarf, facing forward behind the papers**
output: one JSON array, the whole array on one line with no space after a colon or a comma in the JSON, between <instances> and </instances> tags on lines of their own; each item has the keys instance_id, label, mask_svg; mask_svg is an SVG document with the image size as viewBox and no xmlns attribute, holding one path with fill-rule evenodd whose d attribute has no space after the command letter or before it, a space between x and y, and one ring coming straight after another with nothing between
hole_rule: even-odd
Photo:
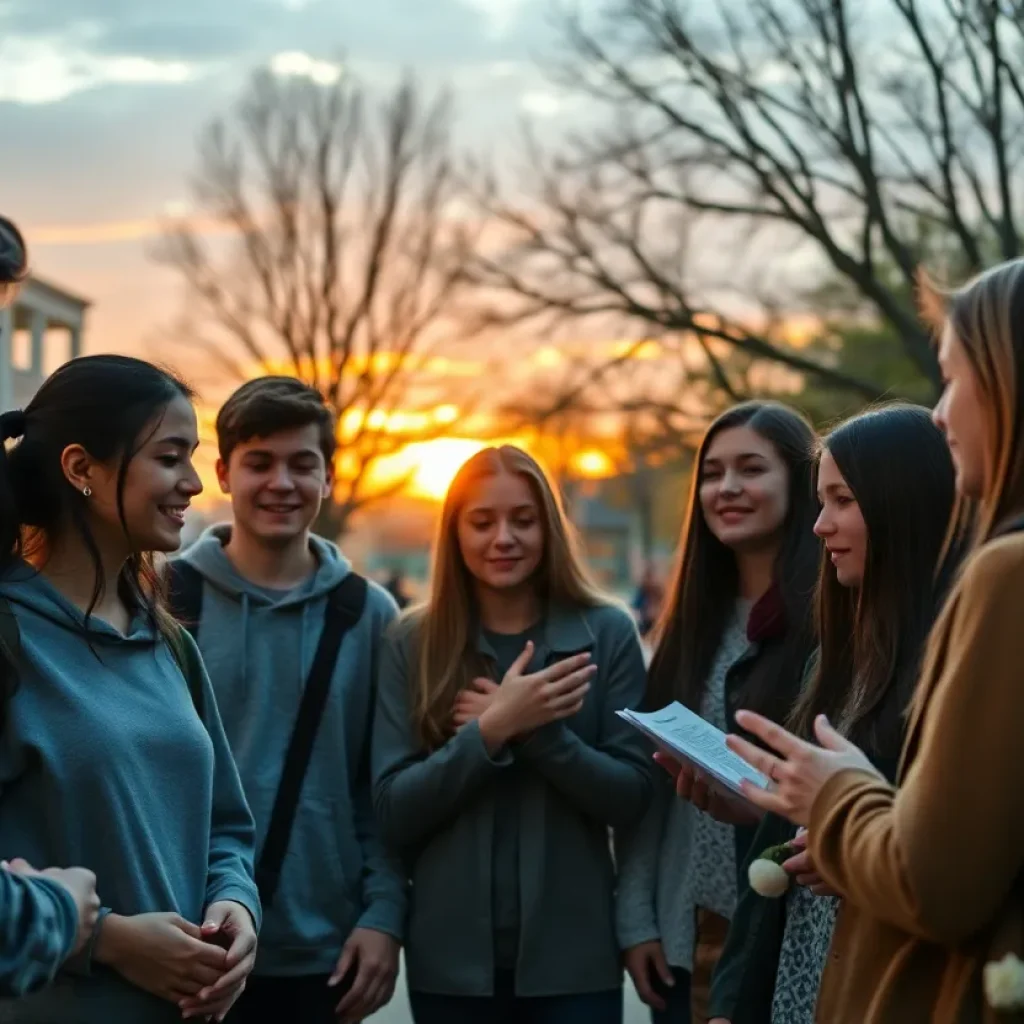
<instances>
[{"instance_id":1,"label":"smiling long-haired woman with maroon scarf, facing forward behind the papers","mask_svg":"<svg viewBox=\"0 0 1024 1024\"><path fill-rule=\"evenodd\" d=\"M741 707L788 714L814 646L813 447L806 420L774 402L737 406L709 428L655 630L648 710L679 700L721 729ZM757 823L712 810L727 820L676 800L662 774L647 815L616 834L620 941L655 1022L707 1020Z\"/></svg>"}]
</instances>

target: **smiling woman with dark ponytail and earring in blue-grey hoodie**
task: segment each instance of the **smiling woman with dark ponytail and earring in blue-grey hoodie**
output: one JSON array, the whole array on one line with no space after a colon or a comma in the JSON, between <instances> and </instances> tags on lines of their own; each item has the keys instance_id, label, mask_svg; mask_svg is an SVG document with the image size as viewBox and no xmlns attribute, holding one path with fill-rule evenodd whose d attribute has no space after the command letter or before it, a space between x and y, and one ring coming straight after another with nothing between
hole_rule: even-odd
<instances>
[{"instance_id":1,"label":"smiling woman with dark ponytail and earring in blue-grey hoodie","mask_svg":"<svg viewBox=\"0 0 1024 1024\"><path fill-rule=\"evenodd\" d=\"M105 904L82 956L0 1021L219 1019L252 968L253 820L153 568L202 489L189 399L95 355L0 416L0 857L84 864Z\"/></svg>"}]
</instances>

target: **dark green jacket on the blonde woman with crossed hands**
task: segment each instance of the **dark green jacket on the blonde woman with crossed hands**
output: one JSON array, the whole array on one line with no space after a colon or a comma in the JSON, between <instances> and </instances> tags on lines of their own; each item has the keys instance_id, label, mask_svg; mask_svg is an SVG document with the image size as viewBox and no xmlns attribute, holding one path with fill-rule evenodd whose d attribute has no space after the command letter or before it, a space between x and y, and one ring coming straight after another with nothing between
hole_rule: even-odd
<instances>
[{"instance_id":1,"label":"dark green jacket on the blonde woman with crossed hands","mask_svg":"<svg viewBox=\"0 0 1024 1024\"><path fill-rule=\"evenodd\" d=\"M374 724L374 805L412 883L406 963L413 991L494 991L494 787L522 770L519 827L520 995L601 991L622 984L609 827L645 811L653 765L615 712L637 708L644 664L636 627L616 606L552 609L544 664L590 650L597 676L582 711L492 758L475 723L427 755L412 722L416 617L381 652ZM493 655L482 637L483 654Z\"/></svg>"}]
</instances>

